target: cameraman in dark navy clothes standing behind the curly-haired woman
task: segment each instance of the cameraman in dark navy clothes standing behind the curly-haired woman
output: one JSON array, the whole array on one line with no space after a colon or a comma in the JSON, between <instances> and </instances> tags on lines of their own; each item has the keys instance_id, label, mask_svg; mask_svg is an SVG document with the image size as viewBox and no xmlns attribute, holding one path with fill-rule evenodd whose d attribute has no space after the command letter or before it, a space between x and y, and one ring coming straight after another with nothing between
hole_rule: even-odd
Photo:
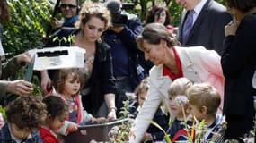
<instances>
[{"instance_id":1,"label":"cameraman in dark navy clothes standing behind the curly-haired woman","mask_svg":"<svg viewBox=\"0 0 256 143\"><path fill-rule=\"evenodd\" d=\"M106 6L111 13L112 26L102 34L102 38L111 47L113 73L118 88L116 105L119 116L122 102L128 99L126 93L133 92L143 78L136 44L137 35L143 27L137 15L122 10L119 0L109 0Z\"/></svg>"}]
</instances>

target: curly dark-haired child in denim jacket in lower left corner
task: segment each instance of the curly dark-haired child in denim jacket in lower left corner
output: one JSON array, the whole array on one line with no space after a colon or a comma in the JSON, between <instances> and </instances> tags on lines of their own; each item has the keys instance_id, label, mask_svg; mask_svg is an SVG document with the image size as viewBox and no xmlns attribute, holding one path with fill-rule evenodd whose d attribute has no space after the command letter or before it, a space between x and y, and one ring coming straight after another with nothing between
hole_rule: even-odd
<instances>
[{"instance_id":1,"label":"curly dark-haired child in denim jacket in lower left corner","mask_svg":"<svg viewBox=\"0 0 256 143\"><path fill-rule=\"evenodd\" d=\"M18 97L6 106L7 122L0 130L1 143L42 143L37 129L47 116L40 97Z\"/></svg>"}]
</instances>

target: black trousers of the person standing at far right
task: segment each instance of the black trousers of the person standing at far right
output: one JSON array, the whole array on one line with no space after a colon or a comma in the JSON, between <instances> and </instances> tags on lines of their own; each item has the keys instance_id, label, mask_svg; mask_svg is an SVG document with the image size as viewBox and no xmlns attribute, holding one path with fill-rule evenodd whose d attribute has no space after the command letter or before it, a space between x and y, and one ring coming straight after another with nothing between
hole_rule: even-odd
<instances>
[{"instance_id":1,"label":"black trousers of the person standing at far right","mask_svg":"<svg viewBox=\"0 0 256 143\"><path fill-rule=\"evenodd\" d=\"M243 143L243 137L250 134L253 130L253 118L239 115L226 115L227 129L225 130L225 139L236 139Z\"/></svg>"}]
</instances>

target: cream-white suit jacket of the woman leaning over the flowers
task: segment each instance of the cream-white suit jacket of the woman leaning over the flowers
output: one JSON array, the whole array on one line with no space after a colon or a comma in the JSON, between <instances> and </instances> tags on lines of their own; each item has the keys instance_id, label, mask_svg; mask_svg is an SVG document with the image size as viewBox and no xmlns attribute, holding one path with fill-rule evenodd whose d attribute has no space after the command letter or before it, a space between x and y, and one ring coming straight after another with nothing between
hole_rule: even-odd
<instances>
[{"instance_id":1,"label":"cream-white suit jacket of the woman leaning over the flowers","mask_svg":"<svg viewBox=\"0 0 256 143\"><path fill-rule=\"evenodd\" d=\"M214 50L206 50L202 46L190 48L175 47L181 60L183 76L194 82L209 82L221 95L224 90L224 76L220 64L220 56ZM161 101L167 106L172 119L174 119L169 107L168 87L172 80L168 76L163 76L163 64L154 66L149 75L150 88L146 95L146 101L137 114L135 126L132 130L135 132L135 142L139 142L146 131L149 122L146 119L152 119L155 111ZM173 120L172 120L173 121Z\"/></svg>"}]
</instances>

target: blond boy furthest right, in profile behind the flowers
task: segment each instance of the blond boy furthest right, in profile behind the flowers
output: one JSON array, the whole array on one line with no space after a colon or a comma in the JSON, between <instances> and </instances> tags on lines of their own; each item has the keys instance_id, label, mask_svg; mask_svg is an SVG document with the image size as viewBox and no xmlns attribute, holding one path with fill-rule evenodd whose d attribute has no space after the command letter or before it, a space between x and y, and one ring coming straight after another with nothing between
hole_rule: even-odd
<instances>
[{"instance_id":1,"label":"blond boy furthest right, in profile behind the flowers","mask_svg":"<svg viewBox=\"0 0 256 143\"><path fill-rule=\"evenodd\" d=\"M207 83L194 84L188 89L187 96L190 114L199 121L204 120L207 126L207 132L201 141L224 142L224 119L221 114L216 114L221 102L216 89Z\"/></svg>"}]
</instances>

